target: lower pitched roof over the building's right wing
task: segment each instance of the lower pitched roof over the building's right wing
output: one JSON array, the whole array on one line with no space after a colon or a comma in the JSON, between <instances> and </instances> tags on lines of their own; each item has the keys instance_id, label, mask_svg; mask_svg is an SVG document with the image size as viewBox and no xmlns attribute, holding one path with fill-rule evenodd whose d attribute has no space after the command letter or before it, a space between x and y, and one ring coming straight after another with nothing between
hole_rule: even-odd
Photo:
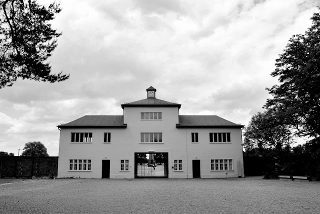
<instances>
[{"instance_id":1,"label":"lower pitched roof over the building's right wing","mask_svg":"<svg viewBox=\"0 0 320 214\"><path fill-rule=\"evenodd\" d=\"M179 115L179 123L177 128L187 127L237 127L241 128L244 125L236 124L223 119L216 115Z\"/></svg>"}]
</instances>

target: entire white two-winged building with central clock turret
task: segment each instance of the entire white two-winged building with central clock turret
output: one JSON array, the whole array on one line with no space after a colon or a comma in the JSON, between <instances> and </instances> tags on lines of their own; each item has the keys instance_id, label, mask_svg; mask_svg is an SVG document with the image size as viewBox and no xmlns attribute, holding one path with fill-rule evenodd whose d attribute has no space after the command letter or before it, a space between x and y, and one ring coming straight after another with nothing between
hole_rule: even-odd
<instances>
[{"instance_id":1,"label":"entire white two-winged building with central clock turret","mask_svg":"<svg viewBox=\"0 0 320 214\"><path fill-rule=\"evenodd\" d=\"M60 129L58 177L243 177L241 128L215 115L179 115L155 98L121 104L123 115L85 115Z\"/></svg>"}]
</instances>

